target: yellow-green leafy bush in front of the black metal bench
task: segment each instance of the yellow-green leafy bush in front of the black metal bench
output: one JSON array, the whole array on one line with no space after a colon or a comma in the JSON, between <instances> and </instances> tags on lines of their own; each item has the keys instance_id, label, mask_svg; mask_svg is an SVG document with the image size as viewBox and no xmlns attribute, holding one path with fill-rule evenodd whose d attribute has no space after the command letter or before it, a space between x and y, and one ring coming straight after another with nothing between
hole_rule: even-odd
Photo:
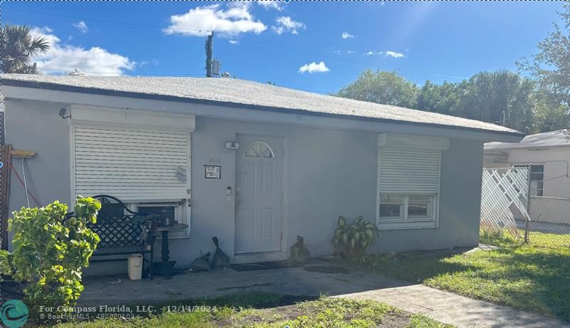
<instances>
[{"instance_id":1,"label":"yellow-green leafy bush in front of the black metal bench","mask_svg":"<svg viewBox=\"0 0 570 328\"><path fill-rule=\"evenodd\" d=\"M1 252L0 273L24 283L31 314L38 314L40 306L64 309L76 303L83 291L83 268L99 242L87 223L95 223L100 208L98 200L77 198L75 216L67 220L68 207L58 201L12 213L14 250Z\"/></svg>"}]
</instances>

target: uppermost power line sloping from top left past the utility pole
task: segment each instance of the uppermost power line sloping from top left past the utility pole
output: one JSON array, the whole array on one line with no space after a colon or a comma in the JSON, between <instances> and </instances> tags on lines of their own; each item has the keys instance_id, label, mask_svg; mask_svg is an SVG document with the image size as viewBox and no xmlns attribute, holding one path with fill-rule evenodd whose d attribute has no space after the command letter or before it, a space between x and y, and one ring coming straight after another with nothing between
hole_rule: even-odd
<instances>
[{"instance_id":1,"label":"uppermost power line sloping from top left past the utility pole","mask_svg":"<svg viewBox=\"0 0 570 328\"><path fill-rule=\"evenodd\" d=\"M100 21L103 23L110 23L110 24L123 24L123 25L130 25L130 26L146 26L146 27L153 27L153 28L158 28L158 29L174 29L174 30L180 30L180 31L199 31L199 32L212 32L211 30L200 30L200 29L183 29L183 28L178 28L178 27L171 27L171 26L160 26L160 25L151 25L151 24L140 24L140 23L130 23L130 22L124 22L124 21L111 21L108 19L93 19L93 18L89 18L89 17L81 17L81 16L68 16L68 15L61 15L61 14L52 14L52 13L43 13L43 12L39 12L39 11L27 11L27 10L21 10L21 9L4 9L7 11L19 11L22 13L27 13L27 14L38 14L38 15L45 15L45 16L56 16L56 17L64 17L64 18L69 18L69 19L83 19L86 21ZM286 51L294 51L297 53L304 53L306 55L311 55L311 56L317 56L320 58L328 58L328 59L332 59L335 61L343 61L345 63L354 63L357 65L362 65L362 66L370 66L370 67L375 67L375 68L383 68L383 69L390 69L390 70L397 70L398 68L393 68L393 67L388 67L388 66L378 66L378 65L373 65L370 63L362 63L359 61L351 61L350 59L345 59L345 58L338 58L335 56L328 56L328 55L323 55L322 53L314 53L311 51L304 51L304 50L300 50L300 49L296 49L296 48L289 48L286 46L279 46L277 44L273 44L273 43L267 43L267 42L263 42L263 41L257 41L257 40L252 40L252 39L244 39L241 37L237 37L237 36L232 36L233 39L237 39L237 40L241 40L241 41L247 41L247 42L252 42L252 43L258 43L261 44L263 46L271 46L274 48L279 48L282 50L286 50Z\"/></svg>"}]
</instances>

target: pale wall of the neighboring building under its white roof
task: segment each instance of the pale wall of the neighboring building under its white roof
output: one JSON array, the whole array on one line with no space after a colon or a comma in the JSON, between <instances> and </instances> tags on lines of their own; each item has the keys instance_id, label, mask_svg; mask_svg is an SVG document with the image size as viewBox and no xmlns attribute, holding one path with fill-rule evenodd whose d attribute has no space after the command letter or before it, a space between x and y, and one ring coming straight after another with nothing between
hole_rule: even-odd
<instances>
[{"instance_id":1,"label":"pale wall of the neighboring building under its white roof","mask_svg":"<svg viewBox=\"0 0 570 328\"><path fill-rule=\"evenodd\" d=\"M544 165L544 197L570 198L570 146L543 149L504 150L507 158L492 163L493 155L485 154L487 168L510 168L512 165Z\"/></svg>"}]
</instances>

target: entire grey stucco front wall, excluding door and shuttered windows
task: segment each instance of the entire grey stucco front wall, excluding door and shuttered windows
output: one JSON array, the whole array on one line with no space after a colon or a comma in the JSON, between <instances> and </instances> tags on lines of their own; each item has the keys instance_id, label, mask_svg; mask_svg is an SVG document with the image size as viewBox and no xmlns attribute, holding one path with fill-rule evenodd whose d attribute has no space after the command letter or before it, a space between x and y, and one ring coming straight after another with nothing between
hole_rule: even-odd
<instances>
[{"instance_id":1,"label":"entire grey stucco front wall, excluding door and shuttered windows","mask_svg":"<svg viewBox=\"0 0 570 328\"><path fill-rule=\"evenodd\" d=\"M7 101L6 141L16 149L36 150L28 160L29 190L43 203L69 202L69 125L53 103ZM338 215L352 219L376 215L377 133L247 123L197 116L192 133L192 219L189 238L170 241L170 259L188 267L200 252L212 252L212 236L234 255L236 153L224 148L237 135L274 135L284 140L285 250L303 235L312 256L329 255ZM383 131L378 131L383 132ZM242 145L245 146L245 145ZM205 179L204 166L214 158L222 178ZM439 225L437 228L383 230L371 252L435 250L475 246L479 240L482 143L451 139L442 152ZM15 163L18 164L19 163ZM16 166L17 167L17 166ZM20 170L19 170L20 171ZM25 205L24 190L12 177L10 209ZM155 259L160 257L160 242ZM116 265L116 264L114 264ZM100 266L102 267L102 266ZM124 269L124 265L121 268ZM108 269L92 272L110 272ZM124 271L124 270L123 270Z\"/></svg>"}]
</instances>

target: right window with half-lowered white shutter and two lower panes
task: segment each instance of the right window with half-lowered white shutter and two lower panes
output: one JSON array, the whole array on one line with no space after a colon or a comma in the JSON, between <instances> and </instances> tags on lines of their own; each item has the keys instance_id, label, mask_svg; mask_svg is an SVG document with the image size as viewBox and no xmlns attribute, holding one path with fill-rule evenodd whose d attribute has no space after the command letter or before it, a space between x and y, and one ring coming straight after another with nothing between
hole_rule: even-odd
<instances>
[{"instance_id":1,"label":"right window with half-lowered white shutter and two lower panes","mask_svg":"<svg viewBox=\"0 0 570 328\"><path fill-rule=\"evenodd\" d=\"M410 136L379 135L378 210L380 229L437 227L441 150L448 140L432 143Z\"/></svg>"}]
</instances>

